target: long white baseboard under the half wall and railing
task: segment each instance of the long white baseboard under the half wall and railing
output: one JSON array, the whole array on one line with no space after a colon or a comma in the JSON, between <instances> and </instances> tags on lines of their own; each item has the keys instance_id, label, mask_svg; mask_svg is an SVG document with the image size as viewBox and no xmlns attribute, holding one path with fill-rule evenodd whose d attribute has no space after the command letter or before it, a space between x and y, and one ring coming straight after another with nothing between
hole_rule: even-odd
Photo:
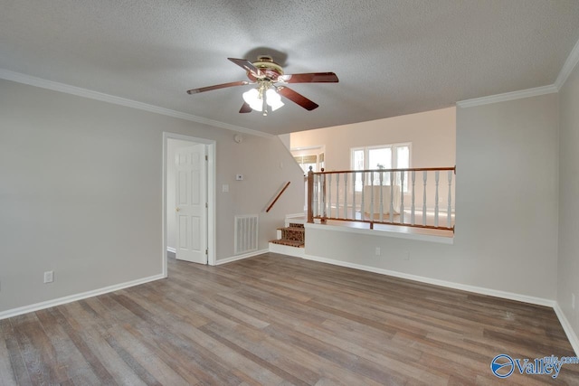
<instances>
[{"instance_id":1,"label":"long white baseboard under the half wall and railing","mask_svg":"<svg viewBox=\"0 0 579 386\"><path fill-rule=\"evenodd\" d=\"M527 297L526 295L520 295L520 294L507 292L507 291L498 291L496 289L489 289L489 288L485 288L485 287L469 286L466 284L453 283L451 281L439 280L436 278L425 278L422 276L411 275L411 274L393 271L393 270L389 270L389 269L368 267L368 266L364 266L361 264L350 263L350 262L340 261L340 260L335 260L335 259L318 258L317 256L311 256L311 255L306 255L304 257L304 259L319 261L319 262L327 263L327 264L333 264L333 265L340 266L340 267L365 270L368 272L374 272L374 273L379 273L382 275L392 276L394 278L405 278L408 280L419 281L421 283L432 284L434 286L460 289L462 291L472 292L475 294L489 295L490 297L501 297L504 299L516 300L519 302L530 303L530 304L537 305L537 306L554 307L556 304L555 300L545 299L542 297Z\"/></svg>"}]
</instances>

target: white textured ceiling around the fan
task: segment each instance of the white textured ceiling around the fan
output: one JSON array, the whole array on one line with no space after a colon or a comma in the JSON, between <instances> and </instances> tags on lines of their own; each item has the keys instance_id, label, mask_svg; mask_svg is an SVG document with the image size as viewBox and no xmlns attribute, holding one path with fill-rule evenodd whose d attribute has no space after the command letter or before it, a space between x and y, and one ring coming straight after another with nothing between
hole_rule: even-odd
<instances>
[{"instance_id":1,"label":"white textured ceiling around the fan","mask_svg":"<svg viewBox=\"0 0 579 386\"><path fill-rule=\"evenodd\" d=\"M577 0L0 0L0 69L271 134L552 85L578 40ZM268 117L251 86L185 93L257 54L340 81Z\"/></svg>"}]
</instances>

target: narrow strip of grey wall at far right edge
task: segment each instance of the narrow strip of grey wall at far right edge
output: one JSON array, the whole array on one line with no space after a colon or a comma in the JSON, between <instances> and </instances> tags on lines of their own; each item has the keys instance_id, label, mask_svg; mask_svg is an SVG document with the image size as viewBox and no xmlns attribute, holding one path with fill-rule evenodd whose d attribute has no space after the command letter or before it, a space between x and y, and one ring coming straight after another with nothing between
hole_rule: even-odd
<instances>
[{"instance_id":1,"label":"narrow strip of grey wall at far right edge","mask_svg":"<svg viewBox=\"0 0 579 386\"><path fill-rule=\"evenodd\" d=\"M559 92L557 302L579 336L579 66ZM571 306L575 296L575 308Z\"/></svg>"}]
</instances>

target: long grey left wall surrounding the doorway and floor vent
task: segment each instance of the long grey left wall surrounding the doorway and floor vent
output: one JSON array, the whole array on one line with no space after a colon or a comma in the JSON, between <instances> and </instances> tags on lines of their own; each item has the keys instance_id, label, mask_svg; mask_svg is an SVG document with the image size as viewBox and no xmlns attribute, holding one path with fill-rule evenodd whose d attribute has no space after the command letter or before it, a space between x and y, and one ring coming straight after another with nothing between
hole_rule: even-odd
<instances>
[{"instance_id":1,"label":"long grey left wall surrounding the doorway and floor vent","mask_svg":"<svg viewBox=\"0 0 579 386\"><path fill-rule=\"evenodd\" d=\"M261 213L282 181L292 189L261 213L260 249L301 211L303 176L277 137L236 144L222 128L0 80L0 316L162 273L164 131L216 141L218 261L233 256L234 214Z\"/></svg>"}]
</instances>

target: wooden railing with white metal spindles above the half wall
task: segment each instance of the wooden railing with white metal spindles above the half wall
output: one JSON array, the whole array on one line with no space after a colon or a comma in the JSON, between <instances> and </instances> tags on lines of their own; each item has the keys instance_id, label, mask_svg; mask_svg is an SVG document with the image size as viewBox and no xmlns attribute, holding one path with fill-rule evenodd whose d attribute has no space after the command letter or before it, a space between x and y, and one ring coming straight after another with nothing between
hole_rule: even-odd
<instances>
[{"instance_id":1,"label":"wooden railing with white metal spindles above the half wall","mask_svg":"<svg viewBox=\"0 0 579 386\"><path fill-rule=\"evenodd\" d=\"M456 166L322 169L319 173L310 167L308 222L355 221L369 223L370 229L388 224L454 231L455 174Z\"/></svg>"}]
</instances>

